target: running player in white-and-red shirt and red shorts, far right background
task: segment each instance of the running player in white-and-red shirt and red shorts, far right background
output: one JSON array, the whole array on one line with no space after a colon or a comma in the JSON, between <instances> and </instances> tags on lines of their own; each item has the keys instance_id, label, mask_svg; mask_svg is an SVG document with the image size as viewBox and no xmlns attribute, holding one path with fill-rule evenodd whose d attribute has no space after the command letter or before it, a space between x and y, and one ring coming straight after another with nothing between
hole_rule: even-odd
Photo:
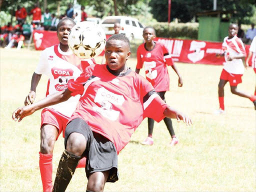
<instances>
[{"instance_id":1,"label":"running player in white-and-red shirt and red shorts, far right background","mask_svg":"<svg viewBox=\"0 0 256 192\"><path fill-rule=\"evenodd\" d=\"M256 106L255 95L250 95L237 89L237 85L242 82L241 76L244 71L242 58L246 56L243 43L241 39L236 36L237 31L237 24L231 23L228 27L228 36L224 38L222 43L223 53L217 54L217 56L225 57L225 63L218 83L219 109L214 112L215 114L221 114L225 111L224 86L228 81L233 94L249 98L254 106Z\"/></svg>"}]
</instances>

